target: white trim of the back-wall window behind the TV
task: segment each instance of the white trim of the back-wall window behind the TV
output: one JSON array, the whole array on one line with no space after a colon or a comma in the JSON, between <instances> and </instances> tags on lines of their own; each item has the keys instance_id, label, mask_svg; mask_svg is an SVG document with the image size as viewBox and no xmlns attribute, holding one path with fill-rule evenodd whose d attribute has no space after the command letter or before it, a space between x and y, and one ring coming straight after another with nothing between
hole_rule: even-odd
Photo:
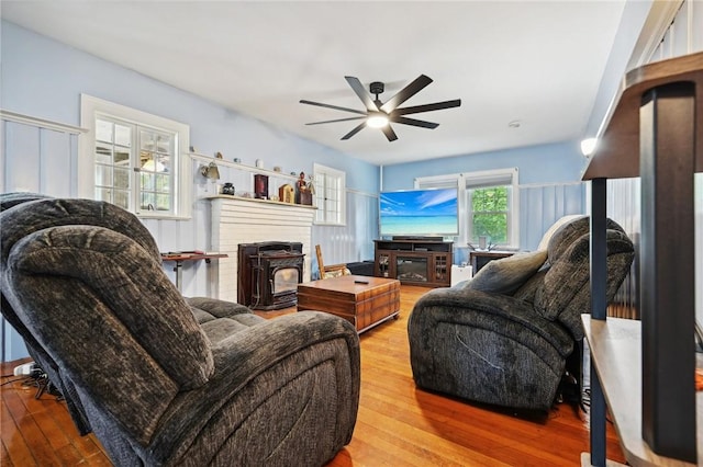
<instances>
[{"instance_id":1,"label":"white trim of the back-wall window behind the TV","mask_svg":"<svg viewBox=\"0 0 703 467\"><path fill-rule=\"evenodd\" d=\"M456 241L469 243L468 221L468 190L481 186L511 185L510 223L507 244L500 244L502 249L520 249L520 178L516 167L507 169L492 169L476 172L450 173L446 175L420 176L414 181L415 189L431 189L440 186L456 186L459 191L459 236Z\"/></svg>"}]
</instances>

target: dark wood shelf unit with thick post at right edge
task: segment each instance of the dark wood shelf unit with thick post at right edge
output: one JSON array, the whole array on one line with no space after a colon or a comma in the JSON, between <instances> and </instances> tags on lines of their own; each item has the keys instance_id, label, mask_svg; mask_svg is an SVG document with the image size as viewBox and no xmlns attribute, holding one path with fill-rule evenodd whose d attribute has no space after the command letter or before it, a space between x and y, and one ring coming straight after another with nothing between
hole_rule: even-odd
<instances>
[{"instance_id":1,"label":"dark wood shelf unit with thick post at right edge","mask_svg":"<svg viewBox=\"0 0 703 467\"><path fill-rule=\"evenodd\" d=\"M605 466L605 400L629 465L703 465L691 253L702 95L703 53L628 72L583 175L592 195L592 309L582 317L592 369L591 453L582 465ZM634 176L641 180L641 321L606 319L606 179Z\"/></svg>"}]
</instances>

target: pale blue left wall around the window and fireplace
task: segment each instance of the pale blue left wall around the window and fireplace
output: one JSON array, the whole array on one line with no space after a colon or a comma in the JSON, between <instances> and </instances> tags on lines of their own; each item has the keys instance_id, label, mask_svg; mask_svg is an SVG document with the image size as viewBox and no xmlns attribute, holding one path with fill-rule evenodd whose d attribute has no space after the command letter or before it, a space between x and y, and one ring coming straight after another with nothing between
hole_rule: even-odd
<instances>
[{"instance_id":1,"label":"pale blue left wall around the window and fireplace","mask_svg":"<svg viewBox=\"0 0 703 467\"><path fill-rule=\"evenodd\" d=\"M77 196L78 138L71 126L80 122L80 94L86 93L190 125L190 144L199 152L221 151L232 161L254 166L263 159L267 168L280 166L284 173L312 173L319 162L346 172L347 225L313 227L313 242L325 241L330 262L372 258L377 237L378 208L373 203L379 185L379 168L358 159L274 128L263 122L214 105L193 94L146 78L94 56L67 47L15 24L2 21L0 31L0 103L3 111L45 122L2 122L0 127L0 192L30 191L53 196ZM210 249L211 195L194 160L193 216L190 220L144 220L161 251ZM221 168L221 181L232 181L237 190L253 190L252 174ZM275 183L275 181L271 181ZM326 237L344 238L344 244ZM286 240L286 239L281 239ZM337 248L339 244L339 248ZM314 251L314 249L311 249ZM347 257L347 253L354 255ZM216 262L183 265L183 295L210 295ZM175 280L171 264L164 266ZM26 355L23 342L4 321L2 360Z\"/></svg>"}]
</instances>

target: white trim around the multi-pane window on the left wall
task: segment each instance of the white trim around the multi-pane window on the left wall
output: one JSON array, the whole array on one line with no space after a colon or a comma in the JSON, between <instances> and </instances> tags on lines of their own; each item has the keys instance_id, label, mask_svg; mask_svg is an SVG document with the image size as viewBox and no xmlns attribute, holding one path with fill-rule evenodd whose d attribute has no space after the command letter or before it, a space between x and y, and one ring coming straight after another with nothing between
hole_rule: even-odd
<instances>
[{"instance_id":1,"label":"white trim around the multi-pane window on the left wall","mask_svg":"<svg viewBox=\"0 0 703 467\"><path fill-rule=\"evenodd\" d=\"M138 212L138 209L135 209L134 214L140 218L190 219L192 217L192 176L190 173L191 160L187 152L190 147L190 126L88 94L80 94L80 126L86 128L87 133L78 138L79 158L78 167L76 168L78 195L89 200L94 200L96 197L96 160L93 150L96 144L96 117L99 115L178 134L174 149L174 157L178 159L178 162L174 164L178 170L174 175L174 214L159 214L153 210Z\"/></svg>"}]
</instances>

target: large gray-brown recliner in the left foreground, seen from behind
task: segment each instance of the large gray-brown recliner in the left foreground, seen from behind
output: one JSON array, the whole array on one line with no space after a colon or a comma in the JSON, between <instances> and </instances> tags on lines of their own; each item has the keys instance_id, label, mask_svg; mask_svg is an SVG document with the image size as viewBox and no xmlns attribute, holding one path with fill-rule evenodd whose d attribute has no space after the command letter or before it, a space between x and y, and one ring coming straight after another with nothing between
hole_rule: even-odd
<instances>
[{"instance_id":1,"label":"large gray-brown recliner in the left foreground, seen from behind","mask_svg":"<svg viewBox=\"0 0 703 467\"><path fill-rule=\"evenodd\" d=\"M352 440L356 330L183 298L102 202L0 196L2 315L115 465L323 465Z\"/></svg>"}]
</instances>

